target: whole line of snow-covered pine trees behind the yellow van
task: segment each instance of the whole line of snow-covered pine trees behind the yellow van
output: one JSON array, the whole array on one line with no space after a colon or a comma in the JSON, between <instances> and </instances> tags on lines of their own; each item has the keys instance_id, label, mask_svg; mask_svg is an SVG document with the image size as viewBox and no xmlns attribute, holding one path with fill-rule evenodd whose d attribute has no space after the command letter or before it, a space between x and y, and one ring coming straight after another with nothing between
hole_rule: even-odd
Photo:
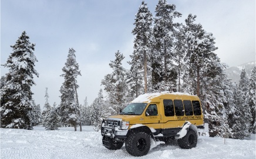
<instances>
[{"instance_id":1,"label":"whole line of snow-covered pine trees behind the yellow van","mask_svg":"<svg viewBox=\"0 0 256 159\"><path fill-rule=\"evenodd\" d=\"M159 1L155 13L153 17L144 1L139 6L132 30L135 38L130 70L122 67L124 56L117 51L109 64L113 71L101 83L107 96L103 98L100 89L90 106L87 101L83 105L78 102L76 77L81 74L75 50L69 49L58 106L48 106L46 89L43 124L52 124L49 130L58 126L74 126L76 130L78 125L94 125L98 130L100 117L116 115L140 94L178 91L200 97L210 136L243 139L255 133L255 68L251 77L243 70L239 84L234 84L225 75L227 66L214 53L218 48L213 34L196 23L196 15L188 15L184 24L175 23L174 18L181 13L165 0ZM32 74L38 75L33 69L37 60L32 53L34 45L19 46L20 39L22 36L4 65L9 73L1 78L1 127L30 129L39 116L30 91L35 84Z\"/></svg>"}]
</instances>

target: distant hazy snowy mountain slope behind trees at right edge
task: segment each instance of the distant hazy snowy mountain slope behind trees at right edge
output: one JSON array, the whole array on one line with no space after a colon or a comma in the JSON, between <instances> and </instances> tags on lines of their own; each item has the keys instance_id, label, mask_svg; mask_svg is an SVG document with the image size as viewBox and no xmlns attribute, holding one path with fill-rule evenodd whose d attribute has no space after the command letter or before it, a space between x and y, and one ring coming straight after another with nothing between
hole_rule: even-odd
<instances>
[{"instance_id":1,"label":"distant hazy snowy mountain slope behind trees at right edge","mask_svg":"<svg viewBox=\"0 0 256 159\"><path fill-rule=\"evenodd\" d=\"M238 84L239 80L240 80L240 74L241 74L242 69L245 69L245 72L247 73L248 78L250 78L252 69L254 67L255 67L255 61L250 62L250 63L241 64L241 65L238 65L237 67L227 68L226 74L227 74L228 78L230 78L236 84Z\"/></svg>"}]
</instances>

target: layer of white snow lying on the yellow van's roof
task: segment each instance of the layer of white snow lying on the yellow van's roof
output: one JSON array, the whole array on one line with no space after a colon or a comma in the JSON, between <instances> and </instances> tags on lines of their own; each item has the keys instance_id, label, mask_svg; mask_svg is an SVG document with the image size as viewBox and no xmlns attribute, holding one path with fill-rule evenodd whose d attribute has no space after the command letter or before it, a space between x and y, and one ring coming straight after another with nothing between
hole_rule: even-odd
<instances>
[{"instance_id":1,"label":"layer of white snow lying on the yellow van's roof","mask_svg":"<svg viewBox=\"0 0 256 159\"><path fill-rule=\"evenodd\" d=\"M151 93L151 94L143 94L143 95L139 95L137 98L135 98L132 103L150 103L151 99L156 98L157 96L160 95L190 95L187 93L181 93L181 92L157 92L157 93Z\"/></svg>"}]
</instances>

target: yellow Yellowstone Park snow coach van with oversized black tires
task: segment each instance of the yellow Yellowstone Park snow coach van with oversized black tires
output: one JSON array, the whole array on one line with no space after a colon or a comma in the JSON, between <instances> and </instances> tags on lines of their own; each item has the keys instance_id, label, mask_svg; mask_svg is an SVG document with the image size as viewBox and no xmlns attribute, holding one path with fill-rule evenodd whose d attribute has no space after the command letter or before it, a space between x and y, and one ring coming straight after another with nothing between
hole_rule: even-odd
<instances>
[{"instance_id":1,"label":"yellow Yellowstone Park snow coach van with oversized black tires","mask_svg":"<svg viewBox=\"0 0 256 159\"><path fill-rule=\"evenodd\" d=\"M146 155L153 142L177 139L181 148L193 148L204 131L204 116L198 96L161 92L143 94L120 112L103 120L103 146Z\"/></svg>"}]
</instances>

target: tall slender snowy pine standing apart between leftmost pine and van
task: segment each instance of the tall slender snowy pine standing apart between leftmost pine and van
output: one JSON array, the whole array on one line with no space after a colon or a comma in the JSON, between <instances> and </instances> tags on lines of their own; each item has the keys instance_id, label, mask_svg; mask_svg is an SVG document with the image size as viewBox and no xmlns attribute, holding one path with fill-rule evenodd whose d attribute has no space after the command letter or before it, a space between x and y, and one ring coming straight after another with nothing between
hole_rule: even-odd
<instances>
[{"instance_id":1,"label":"tall slender snowy pine standing apart between leftmost pine and van","mask_svg":"<svg viewBox=\"0 0 256 159\"><path fill-rule=\"evenodd\" d=\"M64 72L61 77L64 77L62 87L60 87L60 105L58 106L58 113L60 116L60 123L63 126L73 126L76 131L78 126L78 94L76 78L81 75L79 65L76 63L76 55L73 48L69 49L68 59L65 66L62 68Z\"/></svg>"}]
</instances>

